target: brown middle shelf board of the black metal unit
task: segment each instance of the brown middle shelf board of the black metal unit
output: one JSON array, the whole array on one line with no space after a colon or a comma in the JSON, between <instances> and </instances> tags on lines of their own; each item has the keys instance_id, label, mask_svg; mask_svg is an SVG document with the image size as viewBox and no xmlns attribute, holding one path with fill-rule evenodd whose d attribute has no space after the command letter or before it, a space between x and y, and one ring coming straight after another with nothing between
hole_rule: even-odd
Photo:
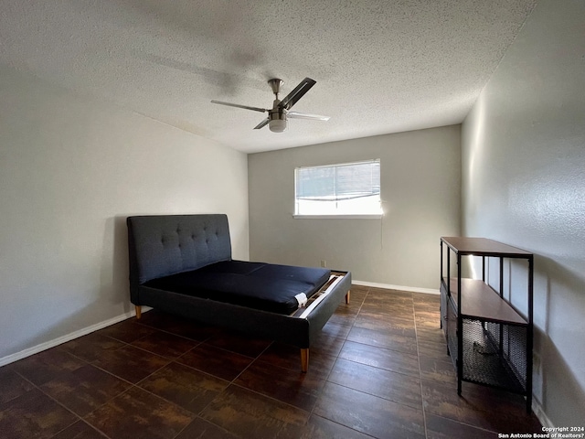
<instances>
[{"instance_id":1,"label":"brown middle shelf board of the black metal unit","mask_svg":"<svg viewBox=\"0 0 585 439\"><path fill-rule=\"evenodd\" d=\"M443 282L445 279L443 278ZM449 283L454 305L457 305L457 278L452 277ZM462 278L462 315L476 316L493 322L526 325L527 320L516 313L516 310L500 298L499 294L484 284L483 281Z\"/></svg>"}]
</instances>

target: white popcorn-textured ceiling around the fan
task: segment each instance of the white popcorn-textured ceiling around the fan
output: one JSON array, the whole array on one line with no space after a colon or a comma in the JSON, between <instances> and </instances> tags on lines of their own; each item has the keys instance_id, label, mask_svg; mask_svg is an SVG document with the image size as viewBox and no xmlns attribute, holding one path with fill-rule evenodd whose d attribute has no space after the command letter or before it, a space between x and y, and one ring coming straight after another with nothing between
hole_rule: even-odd
<instances>
[{"instance_id":1,"label":"white popcorn-textured ceiling around the fan","mask_svg":"<svg viewBox=\"0 0 585 439\"><path fill-rule=\"evenodd\" d=\"M0 0L0 63L244 152L461 123L536 0ZM331 116L252 130L293 110Z\"/></svg>"}]
</instances>

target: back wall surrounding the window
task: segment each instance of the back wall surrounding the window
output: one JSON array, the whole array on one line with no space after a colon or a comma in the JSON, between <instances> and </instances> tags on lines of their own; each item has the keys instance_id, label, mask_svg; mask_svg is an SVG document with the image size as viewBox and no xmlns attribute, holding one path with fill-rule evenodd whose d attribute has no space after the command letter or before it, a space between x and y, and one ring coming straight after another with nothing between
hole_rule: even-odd
<instances>
[{"instance_id":1,"label":"back wall surrounding the window","mask_svg":"<svg viewBox=\"0 0 585 439\"><path fill-rule=\"evenodd\" d=\"M439 287L439 239L460 232L460 125L249 155L250 259ZM379 219L293 219L294 168L381 159Z\"/></svg>"}]
</instances>

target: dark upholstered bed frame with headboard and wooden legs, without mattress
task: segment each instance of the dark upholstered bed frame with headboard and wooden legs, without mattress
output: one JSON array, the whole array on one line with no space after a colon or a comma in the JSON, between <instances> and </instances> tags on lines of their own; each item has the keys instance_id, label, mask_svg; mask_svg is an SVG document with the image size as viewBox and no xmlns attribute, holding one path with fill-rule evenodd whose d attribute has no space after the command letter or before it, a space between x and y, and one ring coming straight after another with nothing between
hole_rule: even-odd
<instances>
[{"instance_id":1,"label":"dark upholstered bed frame with headboard and wooden legs, without mattress","mask_svg":"<svg viewBox=\"0 0 585 439\"><path fill-rule=\"evenodd\" d=\"M130 299L141 306L228 327L301 349L301 369L309 367L309 348L337 306L349 303L350 272L332 272L317 293L291 315L178 294L145 285L153 279L231 261L228 217L223 214L134 216L126 220Z\"/></svg>"}]
</instances>

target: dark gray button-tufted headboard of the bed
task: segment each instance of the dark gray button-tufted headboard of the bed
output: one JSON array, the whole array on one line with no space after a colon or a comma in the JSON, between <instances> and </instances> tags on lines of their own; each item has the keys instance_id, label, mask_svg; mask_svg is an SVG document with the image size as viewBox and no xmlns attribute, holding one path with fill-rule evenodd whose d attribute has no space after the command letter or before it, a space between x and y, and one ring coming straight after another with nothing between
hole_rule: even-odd
<instances>
[{"instance_id":1,"label":"dark gray button-tufted headboard of the bed","mask_svg":"<svg viewBox=\"0 0 585 439\"><path fill-rule=\"evenodd\" d=\"M126 224L132 295L151 279L231 259L226 215L139 216Z\"/></svg>"}]
</instances>

